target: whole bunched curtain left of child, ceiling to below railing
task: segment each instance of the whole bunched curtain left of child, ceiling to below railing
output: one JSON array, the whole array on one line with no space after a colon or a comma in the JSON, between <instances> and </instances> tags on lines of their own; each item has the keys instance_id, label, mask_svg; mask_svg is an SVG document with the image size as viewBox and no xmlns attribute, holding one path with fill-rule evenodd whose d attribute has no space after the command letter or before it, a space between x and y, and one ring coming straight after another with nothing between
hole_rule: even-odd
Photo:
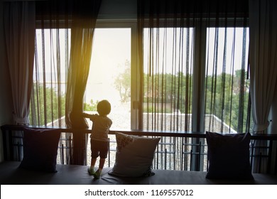
<instances>
[{"instance_id":1,"label":"whole bunched curtain left of child, ceiling to below railing","mask_svg":"<svg viewBox=\"0 0 277 199\"><path fill-rule=\"evenodd\" d=\"M89 75L90 59L92 55L92 41L101 0L74 2L70 63L67 75L67 90L65 100L65 122L73 129L72 164L85 165L87 159L87 134L80 129L89 126L84 117L83 98ZM83 13L83 9L89 12Z\"/></svg>"}]
</instances>

